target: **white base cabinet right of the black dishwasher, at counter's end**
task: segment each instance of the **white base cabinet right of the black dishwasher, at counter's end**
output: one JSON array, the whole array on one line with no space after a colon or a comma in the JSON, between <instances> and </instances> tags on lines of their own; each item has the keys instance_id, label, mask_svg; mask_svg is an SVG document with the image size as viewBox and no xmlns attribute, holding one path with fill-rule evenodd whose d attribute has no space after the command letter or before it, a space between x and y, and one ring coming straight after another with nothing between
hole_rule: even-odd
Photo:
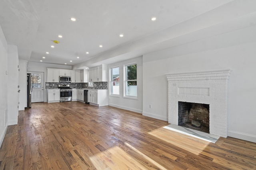
<instances>
[{"instance_id":1,"label":"white base cabinet right of the black dishwasher, at counter's end","mask_svg":"<svg viewBox=\"0 0 256 170\"><path fill-rule=\"evenodd\" d=\"M108 90L88 90L89 103L96 106L108 105Z\"/></svg>"}]
</instances>

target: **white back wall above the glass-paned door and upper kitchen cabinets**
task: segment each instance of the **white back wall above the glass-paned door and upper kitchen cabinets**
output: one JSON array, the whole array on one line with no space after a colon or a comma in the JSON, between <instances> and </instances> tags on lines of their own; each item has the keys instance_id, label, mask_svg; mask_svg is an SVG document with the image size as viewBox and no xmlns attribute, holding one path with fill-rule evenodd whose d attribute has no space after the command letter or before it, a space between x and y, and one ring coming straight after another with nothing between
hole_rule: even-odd
<instances>
[{"instance_id":1,"label":"white back wall above the glass-paned door and upper kitchen cabinets","mask_svg":"<svg viewBox=\"0 0 256 170\"><path fill-rule=\"evenodd\" d=\"M28 62L28 72L44 72L44 84L47 82L47 68L72 69L72 66L48 63ZM44 102L47 102L47 90L44 90Z\"/></svg>"}]
</instances>

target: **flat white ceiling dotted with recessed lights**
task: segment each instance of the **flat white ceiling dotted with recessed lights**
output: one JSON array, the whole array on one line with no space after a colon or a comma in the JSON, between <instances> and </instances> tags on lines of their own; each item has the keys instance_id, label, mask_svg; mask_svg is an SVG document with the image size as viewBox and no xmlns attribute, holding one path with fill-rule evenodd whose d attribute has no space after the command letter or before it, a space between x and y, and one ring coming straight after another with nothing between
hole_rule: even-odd
<instances>
[{"instance_id":1,"label":"flat white ceiling dotted with recessed lights","mask_svg":"<svg viewBox=\"0 0 256 170\"><path fill-rule=\"evenodd\" d=\"M20 60L75 65L125 48L231 1L1 0L0 26L7 43L17 45ZM152 17L157 20L151 21ZM119 37L121 33L124 37ZM158 43L156 38L147 39L148 47ZM54 40L60 43L54 44ZM134 56L134 49L127 47L126 56ZM113 59L116 56L112 54Z\"/></svg>"}]
</instances>

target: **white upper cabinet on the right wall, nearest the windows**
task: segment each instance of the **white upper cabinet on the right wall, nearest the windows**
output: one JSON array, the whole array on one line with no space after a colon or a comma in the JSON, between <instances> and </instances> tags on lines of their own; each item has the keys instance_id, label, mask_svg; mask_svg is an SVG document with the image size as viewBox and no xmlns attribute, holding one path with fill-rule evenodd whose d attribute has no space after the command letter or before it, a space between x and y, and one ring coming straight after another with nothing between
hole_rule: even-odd
<instances>
[{"instance_id":1,"label":"white upper cabinet on the right wall, nearest the windows","mask_svg":"<svg viewBox=\"0 0 256 170\"><path fill-rule=\"evenodd\" d=\"M107 66L100 66L89 69L89 82L106 82L107 81Z\"/></svg>"}]
</instances>

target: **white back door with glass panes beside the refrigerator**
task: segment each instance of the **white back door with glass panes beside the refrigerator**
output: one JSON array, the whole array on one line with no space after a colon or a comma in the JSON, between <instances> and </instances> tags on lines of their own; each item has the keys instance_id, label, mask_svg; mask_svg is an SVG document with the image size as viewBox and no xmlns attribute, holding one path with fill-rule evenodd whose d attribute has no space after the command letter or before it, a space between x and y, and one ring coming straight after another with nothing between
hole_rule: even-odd
<instances>
[{"instance_id":1,"label":"white back door with glass panes beside the refrigerator","mask_svg":"<svg viewBox=\"0 0 256 170\"><path fill-rule=\"evenodd\" d=\"M44 102L44 73L29 72L32 75L31 103Z\"/></svg>"}]
</instances>

